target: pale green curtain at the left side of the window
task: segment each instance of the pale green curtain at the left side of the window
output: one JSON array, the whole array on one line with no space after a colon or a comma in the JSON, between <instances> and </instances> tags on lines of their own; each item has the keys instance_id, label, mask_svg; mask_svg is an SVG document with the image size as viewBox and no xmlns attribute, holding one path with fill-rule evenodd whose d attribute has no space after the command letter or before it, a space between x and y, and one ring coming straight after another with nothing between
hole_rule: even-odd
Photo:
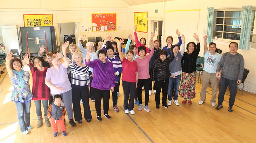
<instances>
[{"instance_id":1,"label":"pale green curtain at the left side of the window","mask_svg":"<svg viewBox=\"0 0 256 143\"><path fill-rule=\"evenodd\" d=\"M212 42L212 28L213 28L213 15L214 15L214 8L208 7L208 15L207 15L207 43Z\"/></svg>"}]
</instances>

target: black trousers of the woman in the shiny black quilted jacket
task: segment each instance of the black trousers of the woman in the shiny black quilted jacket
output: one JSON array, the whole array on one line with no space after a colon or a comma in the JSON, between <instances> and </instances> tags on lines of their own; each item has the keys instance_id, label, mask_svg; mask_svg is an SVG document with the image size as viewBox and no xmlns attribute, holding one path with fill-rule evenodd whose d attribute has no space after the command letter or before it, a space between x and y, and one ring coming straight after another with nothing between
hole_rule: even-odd
<instances>
[{"instance_id":1,"label":"black trousers of the woman in the shiny black quilted jacket","mask_svg":"<svg viewBox=\"0 0 256 143\"><path fill-rule=\"evenodd\" d=\"M162 104L166 105L166 99L167 99L167 89L169 85L169 79L167 78L164 81L155 81L155 105L160 105L160 93L162 89Z\"/></svg>"}]
</instances>

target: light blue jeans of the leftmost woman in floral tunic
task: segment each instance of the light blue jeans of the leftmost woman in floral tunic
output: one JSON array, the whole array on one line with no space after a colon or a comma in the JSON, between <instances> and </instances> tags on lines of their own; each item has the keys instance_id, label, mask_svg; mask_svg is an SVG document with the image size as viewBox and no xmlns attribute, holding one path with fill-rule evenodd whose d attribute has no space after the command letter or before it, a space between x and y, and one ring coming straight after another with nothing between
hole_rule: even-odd
<instances>
[{"instance_id":1,"label":"light blue jeans of the leftmost woman in floral tunic","mask_svg":"<svg viewBox=\"0 0 256 143\"><path fill-rule=\"evenodd\" d=\"M30 126L30 106L31 101L26 103L15 102L15 106L18 112L18 122L20 125L20 130L24 132L27 127Z\"/></svg>"}]
</instances>

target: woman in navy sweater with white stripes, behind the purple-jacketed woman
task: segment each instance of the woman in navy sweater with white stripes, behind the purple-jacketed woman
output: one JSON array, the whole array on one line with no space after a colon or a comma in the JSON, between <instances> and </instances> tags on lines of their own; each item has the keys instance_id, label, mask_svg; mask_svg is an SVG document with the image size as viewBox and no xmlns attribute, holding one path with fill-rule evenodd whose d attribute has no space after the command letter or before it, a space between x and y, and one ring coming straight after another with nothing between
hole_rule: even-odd
<instances>
[{"instance_id":1,"label":"woman in navy sweater with white stripes, behind the purple-jacketed woman","mask_svg":"<svg viewBox=\"0 0 256 143\"><path fill-rule=\"evenodd\" d=\"M115 73L116 86L114 88L114 92L112 92L113 107L114 107L115 112L119 112L119 109L117 107L117 96L118 96L117 92L119 91L118 84L120 84L120 80L119 80L118 76L123 71L123 66L121 64L120 59L114 55L114 47L113 46L107 46L106 50L107 50L107 59L113 63L114 73Z\"/></svg>"}]
</instances>

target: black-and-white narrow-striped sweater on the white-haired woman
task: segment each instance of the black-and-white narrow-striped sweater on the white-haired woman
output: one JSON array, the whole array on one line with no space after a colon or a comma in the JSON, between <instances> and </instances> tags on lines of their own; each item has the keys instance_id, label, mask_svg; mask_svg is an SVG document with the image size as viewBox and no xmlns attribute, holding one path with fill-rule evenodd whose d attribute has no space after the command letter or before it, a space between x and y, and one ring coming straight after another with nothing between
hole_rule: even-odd
<instances>
[{"instance_id":1,"label":"black-and-white narrow-striped sweater on the white-haired woman","mask_svg":"<svg viewBox=\"0 0 256 143\"><path fill-rule=\"evenodd\" d=\"M90 84L89 67L79 67L77 63L69 60L69 67L71 72L71 84L75 85L88 85Z\"/></svg>"}]
</instances>

